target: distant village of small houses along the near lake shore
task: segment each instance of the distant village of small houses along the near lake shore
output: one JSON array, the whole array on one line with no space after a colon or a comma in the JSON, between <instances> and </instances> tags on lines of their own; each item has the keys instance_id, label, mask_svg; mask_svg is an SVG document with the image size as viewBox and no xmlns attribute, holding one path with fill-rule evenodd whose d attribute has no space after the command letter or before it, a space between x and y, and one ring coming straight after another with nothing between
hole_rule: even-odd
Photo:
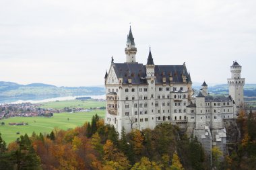
<instances>
[{"instance_id":1,"label":"distant village of small houses along the near lake shore","mask_svg":"<svg viewBox=\"0 0 256 170\"><path fill-rule=\"evenodd\" d=\"M5 103L0 105L0 120L3 118L11 117L33 117L33 116L45 116L51 117L53 113L62 112L91 112L92 110L104 110L105 107L98 108L42 108L41 103Z\"/></svg>"}]
</instances>

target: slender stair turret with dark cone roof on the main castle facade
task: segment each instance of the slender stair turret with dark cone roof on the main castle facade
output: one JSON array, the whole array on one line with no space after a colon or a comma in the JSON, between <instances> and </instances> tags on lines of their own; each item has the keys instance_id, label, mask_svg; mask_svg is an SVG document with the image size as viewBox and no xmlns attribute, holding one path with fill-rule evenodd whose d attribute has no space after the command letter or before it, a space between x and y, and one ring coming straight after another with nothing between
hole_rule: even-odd
<instances>
[{"instance_id":1,"label":"slender stair turret with dark cone roof on the main castle facade","mask_svg":"<svg viewBox=\"0 0 256 170\"><path fill-rule=\"evenodd\" d=\"M150 99L149 103L149 127L150 128L155 128L156 126L156 115L155 115L155 65L154 65L154 61L152 58L152 54L151 54L151 50L150 53L148 54L148 62L146 65L146 80L148 82L148 97ZM152 118L151 118L152 117Z\"/></svg>"}]
</instances>

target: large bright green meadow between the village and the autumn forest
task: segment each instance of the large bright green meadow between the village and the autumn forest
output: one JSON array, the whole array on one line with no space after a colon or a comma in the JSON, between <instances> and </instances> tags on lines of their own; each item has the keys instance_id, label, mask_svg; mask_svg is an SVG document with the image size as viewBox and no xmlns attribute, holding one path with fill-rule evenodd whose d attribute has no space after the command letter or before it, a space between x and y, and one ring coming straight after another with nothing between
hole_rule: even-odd
<instances>
[{"instance_id":1,"label":"large bright green meadow between the village and the autumn forest","mask_svg":"<svg viewBox=\"0 0 256 170\"><path fill-rule=\"evenodd\" d=\"M62 107L61 105L55 104L54 106ZM95 107L100 107L100 105L99 104L95 105ZM48 108L48 106L46 108ZM53 128L55 127L63 130L67 130L69 128L75 128L76 126L82 126L85 122L90 122L94 114L98 114L98 116L100 116L101 118L104 118L105 111L93 110L92 112L61 113L61 114L54 114L53 117L51 118L45 118L45 117L8 118L5 120L0 120L0 122L5 122L5 125L0 125L0 132L2 134L3 140L5 140L5 142L7 142L8 144L9 142L16 140L17 138L20 137L20 135L24 135L25 133L27 133L28 136L31 136L33 131L36 132L36 134L39 134L40 132L44 134L44 133L51 132L51 130L53 130ZM67 120L68 118L69 120ZM28 125L10 126L9 122L15 122L15 123L28 122ZM16 132L20 132L20 134L16 134Z\"/></svg>"}]
</instances>

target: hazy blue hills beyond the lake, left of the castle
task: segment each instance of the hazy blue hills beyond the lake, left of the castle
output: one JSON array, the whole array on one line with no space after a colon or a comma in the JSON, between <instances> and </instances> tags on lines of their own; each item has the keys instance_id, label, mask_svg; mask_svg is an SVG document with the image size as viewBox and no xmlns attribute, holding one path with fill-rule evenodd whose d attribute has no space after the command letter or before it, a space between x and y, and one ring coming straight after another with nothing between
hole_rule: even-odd
<instances>
[{"instance_id":1,"label":"hazy blue hills beyond the lake, left of the castle","mask_svg":"<svg viewBox=\"0 0 256 170\"><path fill-rule=\"evenodd\" d=\"M104 95L104 87L57 87L43 83L20 85L0 81L0 103L5 99L47 99L76 95Z\"/></svg>"}]
</instances>

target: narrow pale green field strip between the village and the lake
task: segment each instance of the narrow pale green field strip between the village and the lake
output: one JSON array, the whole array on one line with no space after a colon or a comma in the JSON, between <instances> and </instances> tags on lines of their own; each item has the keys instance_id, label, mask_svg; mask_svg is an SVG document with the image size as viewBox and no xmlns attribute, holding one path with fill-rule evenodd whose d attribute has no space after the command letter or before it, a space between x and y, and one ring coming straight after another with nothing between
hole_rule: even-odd
<instances>
[{"instance_id":1,"label":"narrow pale green field strip between the village and the lake","mask_svg":"<svg viewBox=\"0 0 256 170\"><path fill-rule=\"evenodd\" d=\"M53 108L53 109L61 109L61 108L96 108L106 106L105 101L93 101L93 100L66 100L66 101L50 101L46 103L42 103L41 108Z\"/></svg>"}]
</instances>

